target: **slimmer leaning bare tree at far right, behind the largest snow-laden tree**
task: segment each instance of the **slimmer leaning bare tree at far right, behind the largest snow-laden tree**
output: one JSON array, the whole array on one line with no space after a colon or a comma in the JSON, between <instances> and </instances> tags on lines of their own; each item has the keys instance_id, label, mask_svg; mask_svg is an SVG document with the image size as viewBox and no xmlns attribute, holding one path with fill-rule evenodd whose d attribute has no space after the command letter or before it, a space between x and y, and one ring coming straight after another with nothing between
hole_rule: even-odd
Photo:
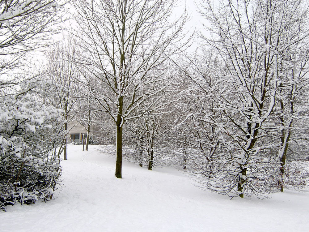
<instances>
[{"instance_id":1,"label":"slimmer leaning bare tree at far right, behind the largest snow-laden tree","mask_svg":"<svg viewBox=\"0 0 309 232\"><path fill-rule=\"evenodd\" d=\"M291 5L287 5L287 8ZM297 11L297 8L301 5L294 4L293 10ZM285 37L286 42L292 44L288 48L282 48L281 53L276 54L278 60L278 79L280 84L277 92L277 105L275 107L276 125L278 127L278 137L280 139L278 146L278 158L280 159L279 167L279 181L278 188L283 192L284 179L285 179L285 164L286 156L288 154L288 148L290 144L296 143L300 140L306 139L306 135L303 135L303 130L299 133L298 125L301 122L306 122L308 116L304 115L303 107L306 108L308 101L308 61L309 61L309 40L299 39L307 36L307 32L304 32L303 20L307 12L304 11L298 18L298 27L294 24L288 26L292 27L289 30L285 30L281 36ZM286 27L287 28L287 27ZM297 28L297 29L296 29ZM300 30L300 28L303 28ZM289 33L287 33L289 32ZM303 129L305 126L303 125ZM294 176L294 178L296 178ZM299 187L299 186L296 186Z\"/></svg>"}]
</instances>

